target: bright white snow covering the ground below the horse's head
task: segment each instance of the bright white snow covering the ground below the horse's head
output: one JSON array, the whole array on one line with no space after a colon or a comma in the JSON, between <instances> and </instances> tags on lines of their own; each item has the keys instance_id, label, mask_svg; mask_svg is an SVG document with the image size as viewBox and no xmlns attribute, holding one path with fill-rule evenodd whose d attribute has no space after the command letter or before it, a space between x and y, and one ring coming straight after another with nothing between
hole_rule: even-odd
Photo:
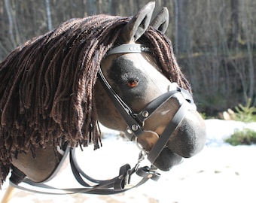
<instances>
[{"instance_id":1,"label":"bright white snow covering the ground below the horse's head","mask_svg":"<svg viewBox=\"0 0 256 203\"><path fill-rule=\"evenodd\" d=\"M160 172L160 180L149 180L142 186L117 195L41 195L16 189L14 202L161 202L161 203L252 203L256 202L254 184L256 183L256 146L237 146L224 143L235 129L251 128L256 123L242 123L224 120L206 120L207 142L204 150L171 171ZM108 179L118 174L121 165L130 163L133 167L139 150L130 141L117 137L117 132L103 129L103 147L93 151L92 146L81 152L78 160L87 174L97 179ZM143 164L148 165L145 161ZM143 166L142 164L142 166ZM50 184L59 187L78 186L66 168ZM132 177L136 182L137 177ZM0 192L0 199L8 187L8 182Z\"/></svg>"}]
</instances>

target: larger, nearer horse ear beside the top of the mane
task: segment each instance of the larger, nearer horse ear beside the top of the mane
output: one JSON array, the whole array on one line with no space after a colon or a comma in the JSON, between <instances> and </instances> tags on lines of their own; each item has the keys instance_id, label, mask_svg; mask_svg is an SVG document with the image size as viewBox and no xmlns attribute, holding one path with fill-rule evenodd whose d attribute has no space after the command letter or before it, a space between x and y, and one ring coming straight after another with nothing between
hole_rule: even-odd
<instances>
[{"instance_id":1,"label":"larger, nearer horse ear beside the top of the mane","mask_svg":"<svg viewBox=\"0 0 256 203\"><path fill-rule=\"evenodd\" d=\"M154 11L154 5L154 2L149 2L126 24L121 34L125 43L137 41L148 29Z\"/></svg>"}]
</instances>

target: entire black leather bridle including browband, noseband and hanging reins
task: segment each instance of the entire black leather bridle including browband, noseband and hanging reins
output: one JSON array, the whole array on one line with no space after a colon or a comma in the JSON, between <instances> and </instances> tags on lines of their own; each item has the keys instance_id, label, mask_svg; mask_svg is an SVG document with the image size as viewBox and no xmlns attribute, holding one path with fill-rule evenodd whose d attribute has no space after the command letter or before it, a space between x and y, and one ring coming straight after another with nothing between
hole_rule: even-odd
<instances>
[{"instance_id":1,"label":"entire black leather bridle including browband, noseband and hanging reins","mask_svg":"<svg viewBox=\"0 0 256 203\"><path fill-rule=\"evenodd\" d=\"M143 52L150 52L150 48L143 44L122 44L109 50L106 56L116 53ZM136 144L138 146L139 144L137 143L137 139L139 138L139 136L145 133L145 130L143 129L145 121L148 120L148 118L151 117L151 115L154 114L154 112L157 111L160 106L169 101L169 99L172 98L174 95L183 102L181 103L180 108L178 108L178 111L176 111L172 120L166 126L166 129L164 129L162 135L159 136L157 143L154 144L154 147L151 149L151 151L145 152L145 150L139 146L141 151L139 153L139 159L136 165L133 168L131 168L129 164L121 166L117 177L114 177L111 180L96 180L85 174L78 165L75 156L75 149L66 147L65 153L61 161L59 162L59 165L57 166L53 174L51 174L50 177L47 178L47 180L41 183L35 183L32 180L29 180L29 178L26 178L20 170L18 170L17 168L13 168L12 175L10 177L11 186L29 192L53 195L73 193L111 195L125 192L129 189L132 189L133 187L140 186L149 179L158 180L160 178L160 174L157 172L157 168L154 166L154 161L160 155L163 148L166 147L167 141L172 135L172 132L174 132L178 125L181 123L186 112L192 109L192 106L194 107L194 101L192 96L189 92L187 92L187 90L179 87L177 83L173 83L174 87L169 92L166 92L163 95L155 98L142 111L140 111L139 113L135 113L128 105L126 105L126 102L123 102L119 95L114 92L114 89L112 89L111 85L108 83L108 80L106 80L105 76L103 75L101 68L99 68L98 71L98 78L102 83L102 86L105 88L106 92L108 92L111 101L114 103L115 107L123 117L123 120L125 120L126 122L126 137L130 140L133 140L135 138ZM78 183L80 183L83 187L58 189L45 184L45 182L51 180L56 175L68 155L72 172ZM151 162L152 165L150 167L139 167L142 160L145 159L145 156L148 157L148 160ZM139 177L142 177L142 179L136 185L130 186L130 180L133 174L139 175ZM17 177L18 179L20 178L19 181L17 181ZM32 186L32 188L29 188L27 186L20 186L20 182L26 183L27 185ZM37 189L34 189L35 187Z\"/></svg>"}]
</instances>

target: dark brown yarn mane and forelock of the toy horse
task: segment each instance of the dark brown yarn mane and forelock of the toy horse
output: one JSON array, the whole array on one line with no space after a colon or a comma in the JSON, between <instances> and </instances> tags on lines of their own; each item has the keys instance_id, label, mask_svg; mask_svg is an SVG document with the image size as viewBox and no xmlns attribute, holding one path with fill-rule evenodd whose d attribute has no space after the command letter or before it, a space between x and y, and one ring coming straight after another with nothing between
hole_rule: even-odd
<instances>
[{"instance_id":1,"label":"dark brown yarn mane and forelock of the toy horse","mask_svg":"<svg viewBox=\"0 0 256 203\"><path fill-rule=\"evenodd\" d=\"M97 15L73 19L27 41L0 64L0 186L11 168L11 154L35 156L35 148L59 145L95 149L101 143L93 86L105 53L127 17ZM165 35L149 27L140 39L157 56L169 80L190 90Z\"/></svg>"}]
</instances>

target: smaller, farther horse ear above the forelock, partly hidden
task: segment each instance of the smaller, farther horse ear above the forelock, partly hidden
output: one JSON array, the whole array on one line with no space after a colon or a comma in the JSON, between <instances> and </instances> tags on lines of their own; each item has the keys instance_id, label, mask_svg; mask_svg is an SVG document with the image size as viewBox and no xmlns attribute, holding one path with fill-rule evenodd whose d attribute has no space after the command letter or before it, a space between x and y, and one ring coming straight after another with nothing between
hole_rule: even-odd
<instances>
[{"instance_id":1,"label":"smaller, farther horse ear above the forelock, partly hidden","mask_svg":"<svg viewBox=\"0 0 256 203\"><path fill-rule=\"evenodd\" d=\"M154 29L158 29L161 32L166 32L166 29L169 24L169 11L166 7L163 7L162 10L157 14L157 16L152 20L151 26Z\"/></svg>"}]
</instances>

